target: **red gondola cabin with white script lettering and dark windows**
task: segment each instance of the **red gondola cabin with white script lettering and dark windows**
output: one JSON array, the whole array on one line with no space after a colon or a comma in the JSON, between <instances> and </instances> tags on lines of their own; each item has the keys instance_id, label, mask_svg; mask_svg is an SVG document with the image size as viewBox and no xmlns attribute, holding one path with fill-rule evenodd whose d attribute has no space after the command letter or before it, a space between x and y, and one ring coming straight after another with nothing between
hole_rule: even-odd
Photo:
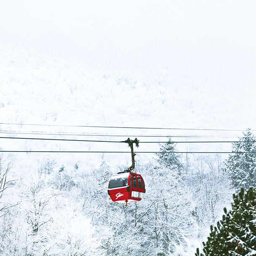
<instances>
[{"instance_id":1,"label":"red gondola cabin with white script lettering and dark windows","mask_svg":"<svg viewBox=\"0 0 256 256\"><path fill-rule=\"evenodd\" d=\"M141 175L122 172L112 176L107 192L112 201L127 203L144 199L146 190Z\"/></svg>"}]
</instances>

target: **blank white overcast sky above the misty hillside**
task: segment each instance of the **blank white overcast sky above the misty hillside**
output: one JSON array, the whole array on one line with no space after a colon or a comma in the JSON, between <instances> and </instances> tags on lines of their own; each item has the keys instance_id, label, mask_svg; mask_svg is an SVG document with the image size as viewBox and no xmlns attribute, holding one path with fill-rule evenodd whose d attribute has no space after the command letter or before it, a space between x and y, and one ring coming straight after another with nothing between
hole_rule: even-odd
<instances>
[{"instance_id":1,"label":"blank white overcast sky above the misty hillside","mask_svg":"<svg viewBox=\"0 0 256 256\"><path fill-rule=\"evenodd\" d=\"M2 0L0 31L245 56L256 52L255 13L253 0Z\"/></svg>"}]
</instances>

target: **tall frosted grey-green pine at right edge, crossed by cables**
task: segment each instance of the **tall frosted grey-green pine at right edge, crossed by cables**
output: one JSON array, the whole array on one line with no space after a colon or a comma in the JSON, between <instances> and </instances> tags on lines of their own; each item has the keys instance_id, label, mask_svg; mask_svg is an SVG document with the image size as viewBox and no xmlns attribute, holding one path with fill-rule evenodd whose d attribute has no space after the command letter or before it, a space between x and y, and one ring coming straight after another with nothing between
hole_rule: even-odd
<instances>
[{"instance_id":1,"label":"tall frosted grey-green pine at right edge, crossed by cables","mask_svg":"<svg viewBox=\"0 0 256 256\"><path fill-rule=\"evenodd\" d=\"M250 129L243 135L239 142L232 143L232 152L235 154L229 155L224 167L238 189L241 186L248 188L256 185L256 153L239 153L256 152L256 140Z\"/></svg>"}]
</instances>

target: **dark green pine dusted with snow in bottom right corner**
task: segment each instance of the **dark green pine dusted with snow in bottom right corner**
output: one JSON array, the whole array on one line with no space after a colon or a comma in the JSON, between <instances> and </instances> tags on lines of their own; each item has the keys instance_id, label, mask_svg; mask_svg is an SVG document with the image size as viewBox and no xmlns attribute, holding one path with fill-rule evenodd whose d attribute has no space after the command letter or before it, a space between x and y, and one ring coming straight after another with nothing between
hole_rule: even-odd
<instances>
[{"instance_id":1,"label":"dark green pine dusted with snow in bottom right corner","mask_svg":"<svg viewBox=\"0 0 256 256\"><path fill-rule=\"evenodd\" d=\"M196 250L196 256L256 256L256 188L242 187L233 195L232 210L211 226L208 241L203 243L204 254Z\"/></svg>"}]
</instances>

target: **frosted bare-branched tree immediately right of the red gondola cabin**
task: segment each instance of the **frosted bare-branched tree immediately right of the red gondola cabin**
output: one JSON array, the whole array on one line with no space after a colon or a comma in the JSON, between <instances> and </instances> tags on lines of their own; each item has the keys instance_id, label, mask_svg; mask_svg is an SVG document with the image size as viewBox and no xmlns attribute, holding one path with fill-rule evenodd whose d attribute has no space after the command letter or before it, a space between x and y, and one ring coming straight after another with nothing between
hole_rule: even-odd
<instances>
[{"instance_id":1,"label":"frosted bare-branched tree immediately right of the red gondola cabin","mask_svg":"<svg viewBox=\"0 0 256 256\"><path fill-rule=\"evenodd\" d=\"M146 215L146 230L152 254L167 256L185 250L191 236L193 217L191 194L177 169L161 165L147 167L147 200L151 207Z\"/></svg>"}]
</instances>

